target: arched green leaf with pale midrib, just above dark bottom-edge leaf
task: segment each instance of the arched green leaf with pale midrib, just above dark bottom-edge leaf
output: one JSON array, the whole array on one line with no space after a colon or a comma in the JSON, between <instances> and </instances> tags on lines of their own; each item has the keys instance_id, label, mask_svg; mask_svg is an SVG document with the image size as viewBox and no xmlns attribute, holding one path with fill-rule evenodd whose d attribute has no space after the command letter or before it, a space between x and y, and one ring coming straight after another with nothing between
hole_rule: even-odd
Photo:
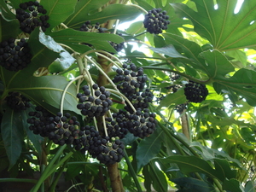
<instances>
[{"instance_id":1,"label":"arched green leaf with pale midrib, just above dark bottom-edge leaf","mask_svg":"<svg viewBox=\"0 0 256 192\"><path fill-rule=\"evenodd\" d=\"M181 172L185 174L189 174L191 172L201 172L207 174L210 177L218 177L218 172L216 172L212 167L207 163L206 160L201 160L195 156L183 156L183 155L173 155L169 156L165 159L162 158L154 158L154 161L160 160L162 164L170 164L176 163L177 166L180 168Z\"/></svg>"}]
</instances>

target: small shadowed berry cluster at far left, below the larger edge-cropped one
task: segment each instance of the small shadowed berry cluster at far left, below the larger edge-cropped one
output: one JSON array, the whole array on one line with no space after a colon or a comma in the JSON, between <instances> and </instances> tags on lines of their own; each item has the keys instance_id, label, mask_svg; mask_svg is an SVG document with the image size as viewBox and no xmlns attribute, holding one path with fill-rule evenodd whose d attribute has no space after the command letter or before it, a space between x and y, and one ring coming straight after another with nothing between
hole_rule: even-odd
<instances>
[{"instance_id":1,"label":"small shadowed berry cluster at far left, below the larger edge-cropped one","mask_svg":"<svg viewBox=\"0 0 256 192\"><path fill-rule=\"evenodd\" d=\"M30 100L19 92L9 92L9 96L5 97L5 101L10 108L17 110L26 110L26 108L31 106Z\"/></svg>"}]
</instances>

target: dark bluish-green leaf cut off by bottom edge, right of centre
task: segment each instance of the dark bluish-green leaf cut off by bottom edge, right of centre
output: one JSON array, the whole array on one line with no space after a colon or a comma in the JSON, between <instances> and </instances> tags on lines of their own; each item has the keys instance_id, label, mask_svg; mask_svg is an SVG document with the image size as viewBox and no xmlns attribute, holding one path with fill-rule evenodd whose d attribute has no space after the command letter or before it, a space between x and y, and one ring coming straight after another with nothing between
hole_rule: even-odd
<instances>
[{"instance_id":1,"label":"dark bluish-green leaf cut off by bottom edge, right of centre","mask_svg":"<svg viewBox=\"0 0 256 192\"><path fill-rule=\"evenodd\" d=\"M191 178L191 177L181 177L171 179L173 183L176 183L178 186L183 187L183 189L188 189L188 191L197 191L197 192L212 192L215 191L211 183L206 183L204 181Z\"/></svg>"}]
</instances>

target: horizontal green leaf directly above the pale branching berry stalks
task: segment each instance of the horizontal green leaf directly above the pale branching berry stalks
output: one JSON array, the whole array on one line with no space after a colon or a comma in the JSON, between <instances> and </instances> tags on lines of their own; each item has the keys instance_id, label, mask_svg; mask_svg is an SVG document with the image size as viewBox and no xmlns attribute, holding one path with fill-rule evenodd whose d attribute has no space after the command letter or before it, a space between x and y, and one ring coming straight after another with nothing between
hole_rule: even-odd
<instances>
[{"instance_id":1,"label":"horizontal green leaf directly above the pale branching berry stalks","mask_svg":"<svg viewBox=\"0 0 256 192\"><path fill-rule=\"evenodd\" d=\"M115 53L115 49L113 49L113 47L108 42L112 41L116 44L120 44L124 41L123 38L115 34L79 32L73 29L64 29L59 32L53 32L50 34L50 36L55 39L55 42L66 44L75 51L80 51L81 46L78 47L80 43L86 43L93 45L95 49L104 49L108 52ZM84 49L88 49L88 46L82 46L84 46Z\"/></svg>"}]
</instances>

